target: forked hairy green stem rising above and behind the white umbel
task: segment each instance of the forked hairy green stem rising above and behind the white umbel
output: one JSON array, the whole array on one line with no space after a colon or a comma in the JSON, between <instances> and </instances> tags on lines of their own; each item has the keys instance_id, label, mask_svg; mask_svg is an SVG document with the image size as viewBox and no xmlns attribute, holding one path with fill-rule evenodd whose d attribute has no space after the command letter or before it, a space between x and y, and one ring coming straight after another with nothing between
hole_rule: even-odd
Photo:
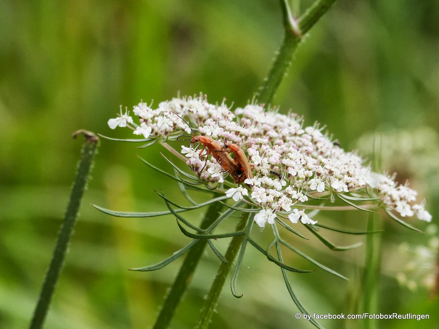
<instances>
[{"instance_id":1,"label":"forked hairy green stem rising above and behind the white umbel","mask_svg":"<svg viewBox=\"0 0 439 329\"><path fill-rule=\"evenodd\" d=\"M283 22L285 28L284 40L273 66L264 79L263 85L257 95L258 102L270 104L274 94L284 78L291 64L292 56L303 36L319 21L326 11L334 4L335 0L316 0L311 7L296 20L291 14L288 0L281 0Z\"/></svg>"}]
</instances>

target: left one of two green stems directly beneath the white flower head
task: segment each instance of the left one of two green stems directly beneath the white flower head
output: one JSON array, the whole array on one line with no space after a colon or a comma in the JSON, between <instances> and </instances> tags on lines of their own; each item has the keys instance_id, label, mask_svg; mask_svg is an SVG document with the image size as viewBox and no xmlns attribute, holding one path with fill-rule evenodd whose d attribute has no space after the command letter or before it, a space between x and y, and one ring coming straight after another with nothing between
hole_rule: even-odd
<instances>
[{"instance_id":1,"label":"left one of two green stems directly beneath the white flower head","mask_svg":"<svg viewBox=\"0 0 439 329\"><path fill-rule=\"evenodd\" d=\"M214 197L219 197L219 194L216 193ZM207 229L213 222L215 222L222 207L223 205L219 202L210 204L200 228ZM180 272L178 272L173 286L171 287L171 290L169 290L166 300L162 305L162 309L160 310L158 318L153 327L154 329L163 329L168 327L169 322L171 322L171 319L173 318L175 309L180 303L184 291L191 282L192 275L194 274L195 268L201 259L206 244L207 239L202 239L188 251L186 258L181 265Z\"/></svg>"}]
</instances>

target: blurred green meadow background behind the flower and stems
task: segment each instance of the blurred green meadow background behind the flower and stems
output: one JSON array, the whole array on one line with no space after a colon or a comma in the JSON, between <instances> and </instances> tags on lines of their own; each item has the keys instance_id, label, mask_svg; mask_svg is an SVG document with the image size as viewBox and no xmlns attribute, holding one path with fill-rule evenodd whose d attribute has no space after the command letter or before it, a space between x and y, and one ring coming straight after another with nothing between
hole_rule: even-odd
<instances>
[{"instance_id":1,"label":"blurred green meadow background behind the flower and stems","mask_svg":"<svg viewBox=\"0 0 439 329\"><path fill-rule=\"evenodd\" d=\"M302 1L302 10L309 3ZM72 140L72 132L131 138L127 130L107 126L119 104L129 109L140 99L158 104L177 91L202 91L211 103L226 97L229 104L244 106L268 72L282 33L277 0L0 0L0 328L25 328L36 304L79 157L81 142ZM428 165L437 175L439 2L338 0L299 46L274 104L284 113L292 109L304 115L308 125L327 125L345 149L362 148L357 139L366 133L424 127L436 140L417 141L424 146L419 167ZM188 239L172 217L112 218L89 204L162 210L154 188L178 200L173 181L137 158L140 154L167 168L160 151L156 145L137 150L133 144L101 141L46 328L148 328L154 323L181 260L157 272L127 268L154 264ZM416 163L416 152L412 155L407 161ZM436 222L438 181L407 171L403 161L388 168L404 172L400 181L410 179L421 199L428 198ZM201 218L202 211L191 216ZM319 221L338 227L361 229L366 223L366 215L357 212L324 216ZM394 279L401 265L398 244L425 244L425 235L389 218L385 229L378 310L431 318L380 321L378 328L439 328L437 296L430 298L423 289L409 292ZM342 245L364 241L329 233ZM260 240L268 239L266 230ZM352 311L363 248L340 254L315 239L288 240L351 279L343 282L322 271L292 274L308 311ZM227 241L218 245L225 250ZM286 261L312 268L296 255L288 254ZM206 252L172 328L194 325L218 266ZM279 268L252 247L239 280L244 297L235 299L226 284L212 328L312 328L295 320L297 308ZM321 323L328 329L360 325Z\"/></svg>"}]
</instances>

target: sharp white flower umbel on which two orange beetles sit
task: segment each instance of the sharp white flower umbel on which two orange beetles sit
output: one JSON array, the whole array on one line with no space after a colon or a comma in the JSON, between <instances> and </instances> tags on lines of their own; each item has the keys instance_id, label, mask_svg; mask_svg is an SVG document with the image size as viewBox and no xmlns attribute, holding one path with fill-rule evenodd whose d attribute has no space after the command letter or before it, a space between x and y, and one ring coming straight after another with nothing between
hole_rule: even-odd
<instances>
[{"instance_id":1,"label":"sharp white flower umbel on which two orange beetles sit","mask_svg":"<svg viewBox=\"0 0 439 329\"><path fill-rule=\"evenodd\" d=\"M130 123L134 134L168 138L181 134L182 130L191 133L181 116L195 122L200 134L221 146L227 141L246 151L254 178L245 179L245 185L229 189L226 194L234 200L246 196L257 204L261 211L255 216L255 222L260 227L266 222L272 224L277 214L288 215L293 223L300 220L304 224L315 224L301 210L306 207L308 196L365 191L367 186L376 188L382 203L401 216L416 213L420 219L431 219L424 210L424 203L412 205L416 197L414 190L397 186L392 178L372 173L363 166L361 157L345 152L317 123L304 128L296 114L266 111L255 104L232 112L224 102L209 104L202 96L173 98L160 103L156 109L140 103L133 113L138 116L140 125L133 123L127 113L122 114L122 110L121 116L110 119L108 125L114 129ZM223 182L227 168L215 157L208 159L207 149L200 154L201 149L182 147L181 153L189 158L186 163L202 181ZM295 207L298 204L300 207Z\"/></svg>"}]
</instances>

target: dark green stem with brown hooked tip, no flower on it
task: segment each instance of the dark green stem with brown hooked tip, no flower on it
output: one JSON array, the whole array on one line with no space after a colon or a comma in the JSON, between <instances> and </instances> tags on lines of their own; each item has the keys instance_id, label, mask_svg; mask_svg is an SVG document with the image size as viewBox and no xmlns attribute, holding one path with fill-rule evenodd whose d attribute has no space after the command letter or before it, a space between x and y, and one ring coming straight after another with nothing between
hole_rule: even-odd
<instances>
[{"instance_id":1,"label":"dark green stem with brown hooked tip, no flower on it","mask_svg":"<svg viewBox=\"0 0 439 329\"><path fill-rule=\"evenodd\" d=\"M79 134L83 134L86 138L84 147L79 162L78 171L76 172L75 183L70 194L67 211L65 212L64 222L61 226L61 231L58 235L58 241L54 250L52 260L50 261L49 269L47 270L46 278L44 279L43 288L41 289L40 297L36 305L30 329L39 329L43 326L44 319L49 309L50 300L55 290L58 281L61 267L64 262L65 253L67 250L68 241L72 235L73 227L78 215L79 206L86 187L87 179L90 173L90 168L93 163L93 157L99 142L99 138L92 132L85 130L78 130L73 134L76 138Z\"/></svg>"}]
</instances>

